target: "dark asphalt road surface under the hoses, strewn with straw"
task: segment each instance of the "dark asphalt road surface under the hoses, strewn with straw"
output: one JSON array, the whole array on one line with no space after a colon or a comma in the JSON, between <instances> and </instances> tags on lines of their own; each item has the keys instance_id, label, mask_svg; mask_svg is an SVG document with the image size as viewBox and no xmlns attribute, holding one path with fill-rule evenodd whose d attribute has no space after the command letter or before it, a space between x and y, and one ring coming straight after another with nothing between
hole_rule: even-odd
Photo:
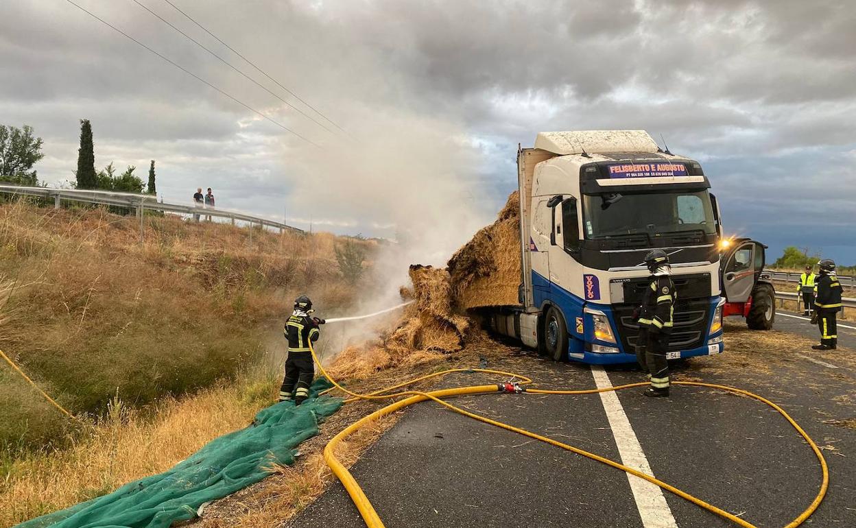
<instances>
[{"instance_id":1,"label":"dark asphalt road surface under the hoses, strewn with straw","mask_svg":"<svg viewBox=\"0 0 856 528\"><path fill-rule=\"evenodd\" d=\"M813 327L799 319L778 317L776 328L816 337ZM748 332L734 324L727 331ZM856 331L847 339L856 339ZM771 357L764 371L750 365L740 371L739 358L729 359L731 370L710 368L717 365L716 357L690 361L676 371L740 386L782 405L823 448L829 464L829 493L807 525L856 526L856 430L842 426L856 418L851 400L856 398L856 363L829 353L812 357L811 348L801 349L807 342L794 353ZM586 365L525 359L527 375L541 388L595 386ZM633 369L607 374L614 385L640 378ZM483 381L461 375L446 384ZM777 412L719 390L677 387L674 393L659 400L645 398L639 389L617 393L618 412L627 417L657 478L757 526L786 525L811 503L821 481L817 460ZM626 439L618 439L609 419L616 411L598 395L478 395L457 398L455 404L622 460L618 446ZM428 403L411 407L351 471L389 528L732 525L669 492L663 493L667 506L644 523L640 503L651 497L634 496L624 472ZM364 526L341 484L330 486L289 524L318 525Z\"/></svg>"}]
</instances>

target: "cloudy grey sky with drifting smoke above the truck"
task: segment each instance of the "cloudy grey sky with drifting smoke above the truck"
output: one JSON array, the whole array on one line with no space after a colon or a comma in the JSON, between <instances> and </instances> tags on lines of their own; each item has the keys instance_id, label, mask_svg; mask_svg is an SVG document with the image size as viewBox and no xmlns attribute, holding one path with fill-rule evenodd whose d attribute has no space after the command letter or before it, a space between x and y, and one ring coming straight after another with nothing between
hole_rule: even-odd
<instances>
[{"instance_id":1,"label":"cloudy grey sky with drifting smoke above the truck","mask_svg":"<svg viewBox=\"0 0 856 528\"><path fill-rule=\"evenodd\" d=\"M3 0L0 123L45 140L51 186L86 118L97 167L145 180L154 159L164 199L212 187L301 228L419 240L433 264L514 190L518 144L645 129L703 164L726 230L769 260L856 264L856 3L169 0L301 102L166 0L74 2L222 92L68 0Z\"/></svg>"}]
</instances>

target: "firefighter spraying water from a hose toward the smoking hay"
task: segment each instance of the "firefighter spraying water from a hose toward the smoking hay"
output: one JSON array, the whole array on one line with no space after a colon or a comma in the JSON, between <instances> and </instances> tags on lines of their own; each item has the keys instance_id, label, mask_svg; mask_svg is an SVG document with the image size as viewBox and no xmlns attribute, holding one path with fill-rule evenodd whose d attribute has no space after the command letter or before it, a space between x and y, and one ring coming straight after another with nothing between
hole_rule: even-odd
<instances>
[{"instance_id":1,"label":"firefighter spraying water from a hose toward the smoking hay","mask_svg":"<svg viewBox=\"0 0 856 528\"><path fill-rule=\"evenodd\" d=\"M285 323L283 334L288 340L288 359L285 360L285 378L279 389L279 400L300 405L309 397L309 386L315 377L315 365L309 350L310 341L318 341L321 331L318 326L326 323L324 319L310 317L312 300L300 295L294 300L294 312Z\"/></svg>"}]
</instances>

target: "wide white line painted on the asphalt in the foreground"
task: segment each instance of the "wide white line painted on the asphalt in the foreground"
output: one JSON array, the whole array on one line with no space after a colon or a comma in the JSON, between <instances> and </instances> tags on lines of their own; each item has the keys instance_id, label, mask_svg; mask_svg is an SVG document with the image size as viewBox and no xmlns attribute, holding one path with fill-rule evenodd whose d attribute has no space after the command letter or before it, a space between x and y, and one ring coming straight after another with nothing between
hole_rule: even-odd
<instances>
[{"instance_id":1,"label":"wide white line painted on the asphalt in the foreground","mask_svg":"<svg viewBox=\"0 0 856 528\"><path fill-rule=\"evenodd\" d=\"M606 371L603 371L603 367L591 365L591 376L594 377L597 389L612 387L609 376L607 376ZM624 413L618 395L615 394L615 391L599 394L600 401L603 403L603 410L606 411L606 418L609 419L612 435L615 436L615 444L618 446L618 454L621 455L621 463L653 477L651 466L648 465L648 459L645 458L645 452L639 445L639 439L636 438L636 433L630 426L630 420ZM657 403L657 401L649 403ZM678 525L675 523L675 517L672 516L672 510L669 509L666 497L663 496L663 489L660 489L657 484L651 484L647 480L630 473L627 473L627 481L630 483L633 499L639 509L639 517L642 518L642 525L645 528L677 528Z\"/></svg>"}]
</instances>

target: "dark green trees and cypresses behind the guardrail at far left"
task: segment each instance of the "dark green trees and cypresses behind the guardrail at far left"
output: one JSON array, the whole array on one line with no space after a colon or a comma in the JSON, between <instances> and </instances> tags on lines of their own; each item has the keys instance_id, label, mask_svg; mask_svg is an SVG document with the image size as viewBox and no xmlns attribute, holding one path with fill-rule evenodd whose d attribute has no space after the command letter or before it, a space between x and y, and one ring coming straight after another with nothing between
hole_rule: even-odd
<instances>
[{"instance_id":1,"label":"dark green trees and cypresses behind the guardrail at far left","mask_svg":"<svg viewBox=\"0 0 856 528\"><path fill-rule=\"evenodd\" d=\"M21 128L0 125L0 181L15 185L35 187L42 185L36 169L44 141L36 137L33 128L24 125ZM155 160L149 165L148 181L144 182L134 174L137 168L128 165L122 173L110 162L104 169L95 169L95 147L92 142L92 123L88 119L80 120L80 148L77 151L77 170L74 181L77 189L98 189L121 193L157 194L155 183Z\"/></svg>"}]
</instances>

